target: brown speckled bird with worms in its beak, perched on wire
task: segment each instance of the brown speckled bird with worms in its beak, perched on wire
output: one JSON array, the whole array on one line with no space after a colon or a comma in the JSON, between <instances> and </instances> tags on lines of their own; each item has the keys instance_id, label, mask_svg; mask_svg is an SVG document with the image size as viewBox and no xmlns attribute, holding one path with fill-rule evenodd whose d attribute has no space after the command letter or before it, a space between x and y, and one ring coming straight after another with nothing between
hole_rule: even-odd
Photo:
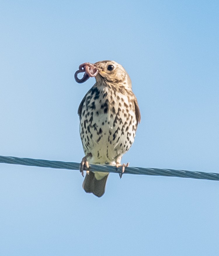
<instances>
[{"instance_id":1,"label":"brown speckled bird with worms in its beak, perched on wire","mask_svg":"<svg viewBox=\"0 0 219 256\"><path fill-rule=\"evenodd\" d=\"M82 79L77 77L80 72L85 72ZM129 163L121 164L121 158L134 142L141 115L131 79L122 65L110 60L81 64L75 73L76 81L82 83L89 77L95 77L96 82L78 108L85 154L80 172L84 177L87 170L84 190L101 197L109 173L91 172L89 163L122 166L123 173Z\"/></svg>"}]
</instances>

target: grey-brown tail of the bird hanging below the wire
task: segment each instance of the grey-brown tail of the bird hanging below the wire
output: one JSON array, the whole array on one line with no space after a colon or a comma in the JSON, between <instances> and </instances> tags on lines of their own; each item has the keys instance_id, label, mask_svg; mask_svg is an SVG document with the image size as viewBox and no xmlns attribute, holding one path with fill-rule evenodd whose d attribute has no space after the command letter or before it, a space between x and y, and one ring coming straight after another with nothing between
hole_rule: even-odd
<instances>
[{"instance_id":1,"label":"grey-brown tail of the bird hanging below the wire","mask_svg":"<svg viewBox=\"0 0 219 256\"><path fill-rule=\"evenodd\" d=\"M97 175L96 175L97 174ZM100 175L98 174L103 174ZM105 175L104 175L105 174ZM83 182L83 189L87 193L93 193L95 196L102 196L105 192L107 177L109 173L102 173L102 172L89 172L89 174L86 174L86 177Z\"/></svg>"}]
</instances>

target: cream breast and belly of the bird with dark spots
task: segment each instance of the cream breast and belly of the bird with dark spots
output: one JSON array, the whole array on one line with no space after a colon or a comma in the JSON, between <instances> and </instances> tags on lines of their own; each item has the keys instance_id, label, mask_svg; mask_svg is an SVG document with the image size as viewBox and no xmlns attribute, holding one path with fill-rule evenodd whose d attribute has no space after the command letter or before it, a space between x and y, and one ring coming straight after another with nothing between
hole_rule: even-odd
<instances>
[{"instance_id":1,"label":"cream breast and belly of the bird with dark spots","mask_svg":"<svg viewBox=\"0 0 219 256\"><path fill-rule=\"evenodd\" d=\"M129 150L137 128L135 95L121 85L95 84L80 106L80 136L93 163L114 163Z\"/></svg>"}]
</instances>

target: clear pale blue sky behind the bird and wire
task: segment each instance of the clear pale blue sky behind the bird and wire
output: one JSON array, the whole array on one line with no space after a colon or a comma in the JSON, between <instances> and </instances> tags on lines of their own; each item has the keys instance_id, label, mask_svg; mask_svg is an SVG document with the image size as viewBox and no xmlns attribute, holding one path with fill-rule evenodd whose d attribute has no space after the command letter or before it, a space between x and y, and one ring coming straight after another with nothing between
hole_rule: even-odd
<instances>
[{"instance_id":1,"label":"clear pale blue sky behind the bird and wire","mask_svg":"<svg viewBox=\"0 0 219 256\"><path fill-rule=\"evenodd\" d=\"M0 155L80 162L83 62L127 70L130 166L219 172L218 1L1 1ZM0 164L0 255L219 255L219 182Z\"/></svg>"}]
</instances>

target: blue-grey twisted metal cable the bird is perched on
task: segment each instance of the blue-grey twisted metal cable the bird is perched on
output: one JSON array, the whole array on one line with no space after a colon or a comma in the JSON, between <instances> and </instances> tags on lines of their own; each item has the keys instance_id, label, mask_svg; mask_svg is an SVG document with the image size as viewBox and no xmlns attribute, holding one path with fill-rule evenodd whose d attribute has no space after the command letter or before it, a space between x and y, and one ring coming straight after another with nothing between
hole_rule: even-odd
<instances>
[{"instance_id":1,"label":"blue-grey twisted metal cable the bird is perched on","mask_svg":"<svg viewBox=\"0 0 219 256\"><path fill-rule=\"evenodd\" d=\"M48 168L55 168L55 169L69 169L69 170L79 170L79 166L80 166L79 163L75 163L75 162L61 162L61 161L50 161L50 160L9 157L9 156L0 156L0 163L48 167ZM89 166L90 166L89 170L92 172L121 173L121 168L116 168L115 166L93 165L93 164ZM126 167L124 174L126 173L168 176L168 177L182 177L182 178L193 178L193 179L219 180L219 173L191 172L191 171L173 170L173 169Z\"/></svg>"}]
</instances>

